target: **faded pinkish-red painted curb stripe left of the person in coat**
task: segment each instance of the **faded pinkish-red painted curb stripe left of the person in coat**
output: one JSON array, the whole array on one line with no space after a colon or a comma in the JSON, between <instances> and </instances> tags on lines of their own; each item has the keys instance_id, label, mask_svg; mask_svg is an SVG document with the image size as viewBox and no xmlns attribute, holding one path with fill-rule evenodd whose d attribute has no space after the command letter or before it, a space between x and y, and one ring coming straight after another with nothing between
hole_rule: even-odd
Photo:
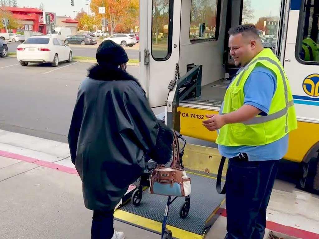
<instances>
[{"instance_id":1,"label":"faded pinkish-red painted curb stripe left of the person in coat","mask_svg":"<svg viewBox=\"0 0 319 239\"><path fill-rule=\"evenodd\" d=\"M24 162L27 162L27 163L34 163L34 164L37 164L37 165L40 165L40 166L43 166L43 167L46 167L46 168L55 169L55 170L59 170L61 172L65 172L65 173L69 173L69 174L77 174L78 175L78 172L77 172L76 169L73 169L73 168L70 168L70 167L66 167L66 166L63 166L63 165L59 165L59 164L56 164L56 163L50 163L50 162L47 162L47 161L38 160L38 159L35 159L35 158L31 158L31 157L27 157L27 156L23 156L23 155L19 155L19 154L13 154L13 153L2 151L2 150L0 150L0 156L21 160L21 161L24 161Z\"/></svg>"}]
</instances>

